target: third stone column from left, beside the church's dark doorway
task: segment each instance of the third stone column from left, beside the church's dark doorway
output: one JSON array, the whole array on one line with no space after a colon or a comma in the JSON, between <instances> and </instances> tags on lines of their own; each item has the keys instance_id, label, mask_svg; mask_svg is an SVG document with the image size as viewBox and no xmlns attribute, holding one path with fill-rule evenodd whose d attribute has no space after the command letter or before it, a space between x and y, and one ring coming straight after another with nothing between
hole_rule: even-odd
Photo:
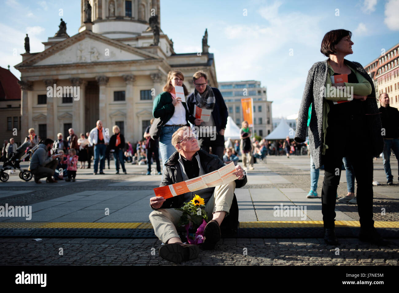
<instances>
[{"instance_id":1,"label":"third stone column from left, beside the church's dark doorway","mask_svg":"<svg viewBox=\"0 0 399 293\"><path fill-rule=\"evenodd\" d=\"M85 86L86 81L80 78L71 78L71 84L74 87L74 92L78 93L77 97L72 100L72 128L78 133L85 133ZM75 90L76 88L76 90Z\"/></svg>"}]
</instances>

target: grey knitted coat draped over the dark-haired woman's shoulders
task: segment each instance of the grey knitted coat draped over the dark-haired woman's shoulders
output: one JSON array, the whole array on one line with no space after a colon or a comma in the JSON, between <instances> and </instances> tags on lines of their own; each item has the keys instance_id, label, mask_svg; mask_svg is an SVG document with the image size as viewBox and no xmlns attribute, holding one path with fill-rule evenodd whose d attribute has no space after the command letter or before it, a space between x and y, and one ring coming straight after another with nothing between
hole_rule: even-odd
<instances>
[{"instance_id":1,"label":"grey knitted coat draped over the dark-haired woman's shoulders","mask_svg":"<svg viewBox=\"0 0 399 293\"><path fill-rule=\"evenodd\" d=\"M322 157L322 123L323 123L323 93L328 76L328 59L313 64L308 72L306 85L302 96L302 102L298 113L298 123L296 124L296 133L294 140L302 143L306 139L306 127L308 122L308 110L312 104L312 114L309 124L309 146L310 155L313 158L316 169L321 167ZM381 119L375 99L374 83L358 62L351 62L344 59L344 63L354 70L358 71L371 84L371 94L365 103L366 125L369 136L364 138L365 144L361 147L370 147L373 156L379 156L384 148L383 137L381 136ZM372 98L371 98L372 97ZM328 135L328 132L327 132ZM358 145L359 146L359 145Z\"/></svg>"}]
</instances>

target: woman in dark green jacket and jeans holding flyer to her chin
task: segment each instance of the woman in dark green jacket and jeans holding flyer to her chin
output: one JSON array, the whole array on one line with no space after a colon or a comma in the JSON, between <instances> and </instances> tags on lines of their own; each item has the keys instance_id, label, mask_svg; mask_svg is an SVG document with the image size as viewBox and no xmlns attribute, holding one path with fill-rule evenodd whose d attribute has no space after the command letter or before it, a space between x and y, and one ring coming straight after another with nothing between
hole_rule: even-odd
<instances>
[{"instance_id":1,"label":"woman in dark green jacket and jeans holding flyer to her chin","mask_svg":"<svg viewBox=\"0 0 399 293\"><path fill-rule=\"evenodd\" d=\"M172 146L172 134L180 127L189 125L190 114L187 111L186 100L183 100L188 95L188 91L183 81L184 76L180 71L170 71L164 91L154 99L152 114L154 118L160 118L162 122L159 137L162 164L165 164L176 151ZM190 118L190 122L194 122L194 117Z\"/></svg>"}]
</instances>

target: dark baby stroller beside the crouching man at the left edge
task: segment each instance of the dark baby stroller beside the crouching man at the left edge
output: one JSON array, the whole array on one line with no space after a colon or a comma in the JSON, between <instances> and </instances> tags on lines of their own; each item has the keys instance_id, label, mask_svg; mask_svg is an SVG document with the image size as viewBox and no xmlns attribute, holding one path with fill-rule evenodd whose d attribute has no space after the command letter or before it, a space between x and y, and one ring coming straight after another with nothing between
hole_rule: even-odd
<instances>
[{"instance_id":1,"label":"dark baby stroller beside the crouching man at the left edge","mask_svg":"<svg viewBox=\"0 0 399 293\"><path fill-rule=\"evenodd\" d=\"M29 170L23 170L20 167L20 161L23 161L25 157L34 152L39 145L34 146L27 153L25 153L26 148L30 145L30 142L24 142L20 147L16 149L15 153L10 153L8 159L4 162L3 167L0 167L0 180L6 182L9 178L7 170L20 170L20 178L25 181L32 179L33 174Z\"/></svg>"}]
</instances>

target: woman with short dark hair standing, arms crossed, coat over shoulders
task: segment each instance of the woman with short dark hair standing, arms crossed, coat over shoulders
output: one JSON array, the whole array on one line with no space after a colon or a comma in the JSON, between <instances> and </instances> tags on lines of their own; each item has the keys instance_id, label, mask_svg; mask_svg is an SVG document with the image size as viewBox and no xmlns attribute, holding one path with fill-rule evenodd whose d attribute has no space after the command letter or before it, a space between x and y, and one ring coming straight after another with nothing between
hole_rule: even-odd
<instances>
[{"instance_id":1,"label":"woman with short dark hair standing, arms crossed, coat over shoulders","mask_svg":"<svg viewBox=\"0 0 399 293\"><path fill-rule=\"evenodd\" d=\"M357 62L344 57L353 54L352 33L345 29L324 35L321 53L329 57L309 70L299 110L295 141L306 138L308 108L310 153L316 169L324 164L322 214L324 240L338 245L335 234L335 203L340 183L342 157L352 161L358 183L360 240L384 244L373 221L373 156L383 149L381 120L374 83ZM323 94L324 92L324 94ZM367 139L370 144L359 146Z\"/></svg>"}]
</instances>

